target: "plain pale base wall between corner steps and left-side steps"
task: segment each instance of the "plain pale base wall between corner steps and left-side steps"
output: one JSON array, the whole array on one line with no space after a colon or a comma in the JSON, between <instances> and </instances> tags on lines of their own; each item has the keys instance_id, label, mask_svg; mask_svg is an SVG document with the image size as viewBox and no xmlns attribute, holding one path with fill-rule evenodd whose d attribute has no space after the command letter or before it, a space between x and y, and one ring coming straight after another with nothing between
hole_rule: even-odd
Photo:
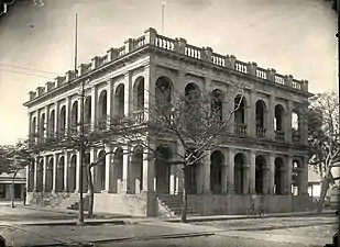
<instances>
[{"instance_id":1,"label":"plain pale base wall between corner steps and left-side steps","mask_svg":"<svg viewBox=\"0 0 340 247\"><path fill-rule=\"evenodd\" d=\"M95 194L95 213L147 216L149 211L147 194Z\"/></svg>"}]
</instances>

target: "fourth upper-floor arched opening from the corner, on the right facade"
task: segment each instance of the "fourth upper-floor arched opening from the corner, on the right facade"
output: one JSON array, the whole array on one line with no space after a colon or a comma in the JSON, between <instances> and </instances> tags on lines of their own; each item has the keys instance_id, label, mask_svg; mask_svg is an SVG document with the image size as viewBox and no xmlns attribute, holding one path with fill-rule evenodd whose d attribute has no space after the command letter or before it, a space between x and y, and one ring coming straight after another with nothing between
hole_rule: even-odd
<instances>
[{"instance_id":1,"label":"fourth upper-floor arched opening from the corner, on the right facade","mask_svg":"<svg viewBox=\"0 0 340 247\"><path fill-rule=\"evenodd\" d=\"M246 125L245 125L245 108L246 101L244 97L237 96L234 98L234 132L238 135L245 135L246 134Z\"/></svg>"}]
</instances>

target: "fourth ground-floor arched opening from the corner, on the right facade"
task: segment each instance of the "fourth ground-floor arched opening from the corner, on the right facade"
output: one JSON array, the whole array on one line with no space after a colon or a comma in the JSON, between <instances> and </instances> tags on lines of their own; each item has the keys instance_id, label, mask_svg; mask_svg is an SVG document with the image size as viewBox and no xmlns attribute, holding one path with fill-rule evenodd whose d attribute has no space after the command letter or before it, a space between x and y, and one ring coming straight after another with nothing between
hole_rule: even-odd
<instances>
[{"instance_id":1,"label":"fourth ground-floor arched opening from the corner, on the right facade","mask_svg":"<svg viewBox=\"0 0 340 247\"><path fill-rule=\"evenodd\" d=\"M234 156L234 190L237 194L245 193L246 159L241 153Z\"/></svg>"}]
</instances>

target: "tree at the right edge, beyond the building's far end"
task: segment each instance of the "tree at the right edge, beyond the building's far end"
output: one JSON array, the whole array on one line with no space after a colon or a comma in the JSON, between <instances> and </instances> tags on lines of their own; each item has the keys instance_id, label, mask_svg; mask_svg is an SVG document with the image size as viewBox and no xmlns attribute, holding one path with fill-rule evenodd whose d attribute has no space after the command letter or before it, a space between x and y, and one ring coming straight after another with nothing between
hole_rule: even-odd
<instances>
[{"instance_id":1,"label":"tree at the right edge, beyond the building's far end","mask_svg":"<svg viewBox=\"0 0 340 247\"><path fill-rule=\"evenodd\" d=\"M321 194L317 214L320 214L329 186L339 180L332 168L340 167L339 98L334 92L319 93L309 104L309 164L321 179Z\"/></svg>"}]
</instances>

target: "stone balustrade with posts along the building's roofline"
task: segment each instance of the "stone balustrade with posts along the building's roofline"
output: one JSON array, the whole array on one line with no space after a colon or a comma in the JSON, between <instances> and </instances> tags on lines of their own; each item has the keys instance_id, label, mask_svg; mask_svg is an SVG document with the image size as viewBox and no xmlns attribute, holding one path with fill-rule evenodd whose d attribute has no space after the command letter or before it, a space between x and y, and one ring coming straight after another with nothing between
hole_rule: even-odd
<instances>
[{"instance_id":1,"label":"stone balustrade with posts along the building's roofline","mask_svg":"<svg viewBox=\"0 0 340 247\"><path fill-rule=\"evenodd\" d=\"M249 74L263 80L268 80L285 87L290 87L298 91L308 91L307 80L296 80L293 76L279 75L275 69L264 69L257 67L255 63L245 63L238 60L233 55L221 55L215 53L212 48L197 47L190 45L184 38L171 38L160 35L154 29L147 30L143 36L138 38L129 38L128 42L118 48L111 48L103 56L96 56L89 64L80 66L80 76L90 72L94 69L103 67L106 64L120 59L121 57L135 52L136 49L152 45L157 48L168 50L172 53L183 54L184 56L205 60L216 66L229 68L241 74ZM36 91L30 92L30 101L39 98L45 93L53 91L52 89L64 86L67 81L77 79L77 77L58 77L55 81L51 81L45 87L40 87Z\"/></svg>"}]
</instances>

